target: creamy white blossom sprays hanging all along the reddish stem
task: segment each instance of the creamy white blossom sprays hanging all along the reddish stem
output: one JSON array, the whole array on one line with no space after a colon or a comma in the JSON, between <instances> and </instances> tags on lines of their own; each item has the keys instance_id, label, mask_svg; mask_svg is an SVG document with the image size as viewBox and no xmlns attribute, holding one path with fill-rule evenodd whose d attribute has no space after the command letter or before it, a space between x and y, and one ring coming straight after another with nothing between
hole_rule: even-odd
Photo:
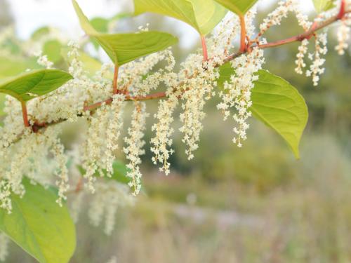
<instances>
[{"instance_id":1,"label":"creamy white blossom sprays hanging all along the reddish stem","mask_svg":"<svg viewBox=\"0 0 351 263\"><path fill-rule=\"evenodd\" d=\"M320 15L318 21L337 14L338 8L336 6ZM350 8L350 1L347 1L347 8ZM236 123L233 141L241 147L249 128L251 92L258 80L258 70L265 62L260 45L266 41L262 36L270 27L279 25L288 13L296 15L298 24L305 31L317 21L308 21L294 0L280 1L277 8L258 27L255 26L256 9L252 8L246 14L246 44L255 43L254 47L251 46L245 54L230 62L232 76L224 84L224 90L219 93L216 93L218 66L227 61L233 50L237 50L237 36L241 27L236 15L228 14L206 39L210 55L208 60L204 61L201 50L197 50L180 64L180 70L176 72L176 60L171 49L147 55L119 68L119 93L114 95L111 81L114 65L102 65L100 71L92 74L81 62L79 45L69 43L67 62L69 73L74 79L58 90L27 103L29 123L32 126L38 123L55 125L41 128L37 133L31 128L25 128L20 103L12 97L6 97L6 117L4 127L0 127L0 208L11 212L11 194L25 194L22 179L26 176L44 186L55 184L58 187L60 204L67 199L67 194L74 193L76 197L71 203L74 220L78 219L84 196L95 193L91 197L89 217L94 225L100 224L105 217L105 232L110 234L117 207L133 203L129 191L136 195L141 188L140 163L141 156L145 153L143 137L148 114L146 102L138 101L138 97L145 99L145 96L152 94L160 86L166 92L164 98L159 100L157 112L154 114L154 136L150 141L150 150L154 155L153 163L159 164L160 170L166 175L170 173L169 159L174 152L172 135L177 130L173 126L175 112L180 111L178 130L186 145L185 154L188 159L193 159L194 151L199 147L201 130L204 128L202 123L206 116L206 102L216 95L221 100L217 107L223 112L224 119L232 116ZM348 48L350 23L349 14L340 22L336 46L340 54L345 53ZM0 41L1 39L4 37L0 37ZM46 40L41 39L41 46ZM300 40L302 42L298 48L296 72L303 74L303 69L307 67L305 55L308 54L312 61L305 74L312 76L314 85L317 85L319 75L324 72L322 57L327 51L326 34L322 32ZM308 53L310 41L314 41L314 50ZM36 55L39 65L53 67L46 55L41 52ZM160 62L166 63L166 66L157 67L161 65ZM122 137L124 123L127 123L124 119L127 104L133 104L134 108L130 126L126 129L127 135ZM77 123L79 120L84 127L79 130L81 136L74 150L67 151L59 139L64 130L63 123ZM127 161L131 190L110 178L114 175L114 161L121 153L125 154ZM72 160L74 165L69 168L67 163ZM1 255L4 253L0 252L0 258Z\"/></svg>"}]
</instances>

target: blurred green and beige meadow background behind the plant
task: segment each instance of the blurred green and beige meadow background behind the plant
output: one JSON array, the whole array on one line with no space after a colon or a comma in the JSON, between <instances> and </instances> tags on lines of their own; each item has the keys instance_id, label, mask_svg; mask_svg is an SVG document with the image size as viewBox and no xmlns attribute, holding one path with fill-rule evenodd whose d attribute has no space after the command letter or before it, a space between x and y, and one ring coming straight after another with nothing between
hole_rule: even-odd
<instances>
[{"instance_id":1,"label":"blurred green and beige meadow background behind the plant","mask_svg":"<svg viewBox=\"0 0 351 263\"><path fill-rule=\"evenodd\" d=\"M2 26L12 20L4 5L0 1ZM145 18L152 29L176 30L160 20ZM289 18L271 29L267 39L298 32L296 20ZM112 256L117 262L140 263L351 262L351 57L337 55L334 37L331 29L326 73L317 88L294 72L298 44L265 51L265 68L296 86L309 107L300 160L254 119L244 147L237 148L231 143L233 123L223 122L216 101L209 102L194 161L186 160L179 133L168 177L152 166L147 151L145 194L135 207L119 210L112 236L91 227L83 213L72 262L107 262ZM176 48L178 60L198 47ZM18 39L8 39L0 50L32 65ZM11 72L8 59L1 53L0 72ZM153 114L157 102L147 103ZM147 141L153 121L150 117ZM72 127L63 140L69 149ZM6 262L34 261L11 245Z\"/></svg>"}]
</instances>

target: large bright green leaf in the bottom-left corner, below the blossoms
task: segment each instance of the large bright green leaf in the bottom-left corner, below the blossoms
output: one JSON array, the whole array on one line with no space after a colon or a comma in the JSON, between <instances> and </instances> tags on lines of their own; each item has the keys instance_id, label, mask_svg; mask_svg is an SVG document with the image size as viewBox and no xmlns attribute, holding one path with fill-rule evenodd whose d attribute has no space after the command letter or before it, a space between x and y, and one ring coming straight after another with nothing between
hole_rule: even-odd
<instances>
[{"instance_id":1,"label":"large bright green leaf in the bottom-left corner, below the blossoms","mask_svg":"<svg viewBox=\"0 0 351 263\"><path fill-rule=\"evenodd\" d=\"M51 189L24 180L23 198L12 194L12 213L0 209L0 230L40 263L67 263L76 248L74 223Z\"/></svg>"}]
</instances>

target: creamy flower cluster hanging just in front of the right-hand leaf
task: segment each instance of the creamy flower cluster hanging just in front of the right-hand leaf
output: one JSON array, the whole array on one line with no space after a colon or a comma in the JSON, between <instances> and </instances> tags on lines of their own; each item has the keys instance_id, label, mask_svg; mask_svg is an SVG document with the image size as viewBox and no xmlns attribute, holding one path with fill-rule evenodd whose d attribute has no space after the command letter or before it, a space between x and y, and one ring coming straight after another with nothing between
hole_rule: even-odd
<instances>
[{"instance_id":1,"label":"creamy flower cluster hanging just in front of the right-hand leaf","mask_svg":"<svg viewBox=\"0 0 351 263\"><path fill-rule=\"evenodd\" d=\"M220 92L222 102L217 108L223 112L224 119L230 116L230 109L234 107L237 111L234 115L234 121L237 127L234 128L235 137L233 142L241 147L242 142L246 140L246 130L249 128L247 119L251 116L249 107L252 105L251 90L254 88L254 81L258 80L257 72L262 68L264 63L263 50L254 48L247 55L241 55L232 61L234 74L230 82L226 82L224 92Z\"/></svg>"}]
</instances>

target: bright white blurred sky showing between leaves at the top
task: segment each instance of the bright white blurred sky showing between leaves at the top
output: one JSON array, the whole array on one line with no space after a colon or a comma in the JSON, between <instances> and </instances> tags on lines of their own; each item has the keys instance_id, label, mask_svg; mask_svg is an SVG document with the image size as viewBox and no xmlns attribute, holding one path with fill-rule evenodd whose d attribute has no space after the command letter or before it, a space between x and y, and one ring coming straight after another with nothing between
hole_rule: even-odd
<instances>
[{"instance_id":1,"label":"bright white blurred sky showing between leaves at the top","mask_svg":"<svg viewBox=\"0 0 351 263\"><path fill-rule=\"evenodd\" d=\"M89 18L95 16L108 17L122 11L133 11L132 0L77 1ZM275 1L277 2L277 0ZM312 0L299 1L305 11L312 8ZM82 34L71 0L10 0L8 2L11 4L11 10L15 17L16 31L22 39L29 37L35 29L43 25L58 27L72 38L77 36L77 32L80 32L78 36ZM261 0L259 8L270 6L272 2L274 0ZM187 37L180 37L181 46L190 46L194 41L197 41L197 34L192 28L181 22L180 26L183 27L183 34L187 35Z\"/></svg>"}]
</instances>

